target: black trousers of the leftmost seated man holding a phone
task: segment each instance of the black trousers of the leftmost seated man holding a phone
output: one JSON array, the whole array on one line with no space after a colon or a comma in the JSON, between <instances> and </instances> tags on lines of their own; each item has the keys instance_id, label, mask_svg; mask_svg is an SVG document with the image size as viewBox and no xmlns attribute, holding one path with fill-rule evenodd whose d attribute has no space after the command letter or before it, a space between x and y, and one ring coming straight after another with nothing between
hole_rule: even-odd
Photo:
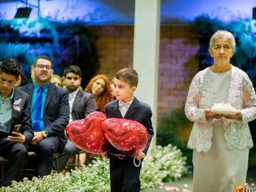
<instances>
[{"instance_id":1,"label":"black trousers of the leftmost seated man holding a phone","mask_svg":"<svg viewBox=\"0 0 256 192\"><path fill-rule=\"evenodd\" d=\"M10 142L7 138L0 139L0 156L8 159L4 186L9 186L12 180L18 181L28 158L24 143Z\"/></svg>"}]
</instances>

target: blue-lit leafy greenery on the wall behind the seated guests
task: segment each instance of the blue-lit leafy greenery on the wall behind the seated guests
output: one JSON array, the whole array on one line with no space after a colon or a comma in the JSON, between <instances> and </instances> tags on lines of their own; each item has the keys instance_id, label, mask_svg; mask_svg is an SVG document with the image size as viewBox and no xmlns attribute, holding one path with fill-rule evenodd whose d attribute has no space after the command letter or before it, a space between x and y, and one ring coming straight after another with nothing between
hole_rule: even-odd
<instances>
[{"instance_id":1,"label":"blue-lit leafy greenery on the wall behind the seated guests","mask_svg":"<svg viewBox=\"0 0 256 192\"><path fill-rule=\"evenodd\" d=\"M52 58L54 74L72 64L82 70L82 86L99 68L96 37L84 24L50 22L45 18L0 20L0 61L16 58L29 77L30 66L39 55Z\"/></svg>"}]
</instances>

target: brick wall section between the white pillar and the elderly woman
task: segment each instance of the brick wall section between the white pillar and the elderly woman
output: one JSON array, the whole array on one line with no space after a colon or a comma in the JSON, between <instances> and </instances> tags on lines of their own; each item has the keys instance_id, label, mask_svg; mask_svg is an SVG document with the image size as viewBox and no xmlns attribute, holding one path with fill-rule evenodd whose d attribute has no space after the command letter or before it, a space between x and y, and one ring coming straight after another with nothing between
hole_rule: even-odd
<instances>
[{"instance_id":1,"label":"brick wall section between the white pillar and the elderly woman","mask_svg":"<svg viewBox=\"0 0 256 192\"><path fill-rule=\"evenodd\" d=\"M192 26L161 27L158 114L185 103L190 82L198 72L199 48Z\"/></svg>"}]
</instances>

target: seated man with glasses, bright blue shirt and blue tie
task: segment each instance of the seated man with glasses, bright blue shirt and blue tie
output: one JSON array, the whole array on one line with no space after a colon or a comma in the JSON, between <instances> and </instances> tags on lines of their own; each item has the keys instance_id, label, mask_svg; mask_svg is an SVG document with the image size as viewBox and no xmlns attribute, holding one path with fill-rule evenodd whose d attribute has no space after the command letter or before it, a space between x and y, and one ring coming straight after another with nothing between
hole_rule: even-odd
<instances>
[{"instance_id":1,"label":"seated man with glasses, bright blue shirt and blue tie","mask_svg":"<svg viewBox=\"0 0 256 192\"><path fill-rule=\"evenodd\" d=\"M34 138L29 151L37 154L36 174L45 176L53 169L53 154L62 151L67 139L64 130L69 120L68 91L50 83L53 69L48 56L34 61L35 82L22 88L30 95L30 112Z\"/></svg>"}]
</instances>

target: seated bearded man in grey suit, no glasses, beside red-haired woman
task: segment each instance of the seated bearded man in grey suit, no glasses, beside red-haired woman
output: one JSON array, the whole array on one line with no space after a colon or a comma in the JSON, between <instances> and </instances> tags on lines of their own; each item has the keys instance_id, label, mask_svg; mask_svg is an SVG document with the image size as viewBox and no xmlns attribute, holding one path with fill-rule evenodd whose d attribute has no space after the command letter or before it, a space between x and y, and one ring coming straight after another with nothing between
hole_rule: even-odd
<instances>
[{"instance_id":1,"label":"seated bearded man in grey suit, no glasses, beside red-haired woman","mask_svg":"<svg viewBox=\"0 0 256 192\"><path fill-rule=\"evenodd\" d=\"M83 119L91 112L96 111L93 94L79 90L82 80L81 75L81 69L76 65L70 65L64 69L64 82L69 92L69 122ZM68 140L62 154L58 157L59 170L63 170L69 158L79 151L80 149ZM81 164L84 164L84 162L85 155Z\"/></svg>"}]
</instances>

